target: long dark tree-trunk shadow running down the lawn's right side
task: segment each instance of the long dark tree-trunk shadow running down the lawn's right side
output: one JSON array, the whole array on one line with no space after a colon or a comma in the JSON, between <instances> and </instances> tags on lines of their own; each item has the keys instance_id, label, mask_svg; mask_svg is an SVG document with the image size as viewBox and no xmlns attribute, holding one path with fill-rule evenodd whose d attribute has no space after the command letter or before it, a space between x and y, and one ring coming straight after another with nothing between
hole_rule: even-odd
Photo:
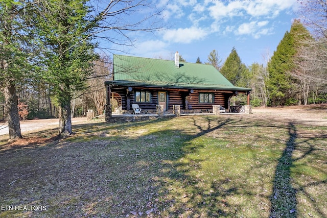
<instances>
[{"instance_id":1,"label":"long dark tree-trunk shadow running down the lawn's right side","mask_svg":"<svg viewBox=\"0 0 327 218\"><path fill-rule=\"evenodd\" d=\"M282 157L279 158L275 177L273 180L273 193L270 196L271 210L269 217L296 217L297 200L296 190L291 184L292 153L295 149L297 138L296 127L293 123L288 125L289 139Z\"/></svg>"}]
</instances>

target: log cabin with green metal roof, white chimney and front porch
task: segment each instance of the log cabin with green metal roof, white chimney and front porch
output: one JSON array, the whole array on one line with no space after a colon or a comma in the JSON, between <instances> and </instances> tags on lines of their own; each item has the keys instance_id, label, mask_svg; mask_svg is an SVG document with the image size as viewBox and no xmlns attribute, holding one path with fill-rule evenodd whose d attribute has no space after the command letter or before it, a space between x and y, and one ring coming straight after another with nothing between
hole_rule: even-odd
<instances>
[{"instance_id":1,"label":"log cabin with green metal roof, white chimney and front porch","mask_svg":"<svg viewBox=\"0 0 327 218\"><path fill-rule=\"evenodd\" d=\"M233 86L214 66L113 55L113 74L106 81L107 105L123 113L132 113L138 104L142 113L155 112L157 105L164 111L179 105L181 113L210 112L213 105L230 111L229 100L246 93L249 105L251 89Z\"/></svg>"}]
</instances>

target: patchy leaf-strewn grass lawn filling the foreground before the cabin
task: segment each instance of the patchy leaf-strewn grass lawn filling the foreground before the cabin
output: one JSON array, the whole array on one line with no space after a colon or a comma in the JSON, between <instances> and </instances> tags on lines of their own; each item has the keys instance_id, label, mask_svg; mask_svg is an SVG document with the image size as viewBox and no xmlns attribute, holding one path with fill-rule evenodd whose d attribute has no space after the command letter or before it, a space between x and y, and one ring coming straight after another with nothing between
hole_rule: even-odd
<instances>
[{"instance_id":1,"label":"patchy leaf-strewn grass lawn filling the foreground before the cabin","mask_svg":"<svg viewBox=\"0 0 327 218\"><path fill-rule=\"evenodd\" d=\"M0 217L327 217L326 127L229 115L73 128L0 138Z\"/></svg>"}]
</instances>

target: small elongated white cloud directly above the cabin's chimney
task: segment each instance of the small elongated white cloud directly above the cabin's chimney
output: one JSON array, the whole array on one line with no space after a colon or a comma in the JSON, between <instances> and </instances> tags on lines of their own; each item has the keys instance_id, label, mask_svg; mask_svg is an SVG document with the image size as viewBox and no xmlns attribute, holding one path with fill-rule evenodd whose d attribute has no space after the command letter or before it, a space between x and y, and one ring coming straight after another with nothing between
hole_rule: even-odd
<instances>
[{"instance_id":1,"label":"small elongated white cloud directly above the cabin's chimney","mask_svg":"<svg viewBox=\"0 0 327 218\"><path fill-rule=\"evenodd\" d=\"M209 34L202 28L179 28L174 30L167 30L164 34L164 40L177 43L191 43L196 40L205 38Z\"/></svg>"}]
</instances>

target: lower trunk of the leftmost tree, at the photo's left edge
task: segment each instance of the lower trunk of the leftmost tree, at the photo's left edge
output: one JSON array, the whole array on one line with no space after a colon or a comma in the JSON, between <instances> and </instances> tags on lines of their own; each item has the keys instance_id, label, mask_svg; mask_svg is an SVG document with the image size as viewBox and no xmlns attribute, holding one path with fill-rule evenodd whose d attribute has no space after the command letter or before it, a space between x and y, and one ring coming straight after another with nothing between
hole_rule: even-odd
<instances>
[{"instance_id":1,"label":"lower trunk of the leftmost tree, at the photo's left edge","mask_svg":"<svg viewBox=\"0 0 327 218\"><path fill-rule=\"evenodd\" d=\"M6 100L5 107L7 109L9 138L22 138L18 116L18 99L15 85L12 82L9 82L4 88L4 95Z\"/></svg>"}]
</instances>

